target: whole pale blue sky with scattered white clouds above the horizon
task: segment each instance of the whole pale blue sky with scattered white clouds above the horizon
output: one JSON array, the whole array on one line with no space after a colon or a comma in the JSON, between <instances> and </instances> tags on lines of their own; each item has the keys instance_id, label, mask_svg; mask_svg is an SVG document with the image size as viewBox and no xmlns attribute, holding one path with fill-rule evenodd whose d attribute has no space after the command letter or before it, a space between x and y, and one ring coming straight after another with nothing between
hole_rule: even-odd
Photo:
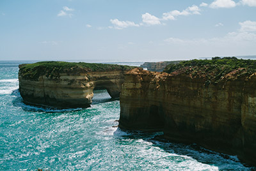
<instances>
[{"instance_id":1,"label":"whole pale blue sky with scattered white clouds above the horizon","mask_svg":"<svg viewBox=\"0 0 256 171\"><path fill-rule=\"evenodd\" d=\"M256 0L0 0L0 60L256 55Z\"/></svg>"}]
</instances>

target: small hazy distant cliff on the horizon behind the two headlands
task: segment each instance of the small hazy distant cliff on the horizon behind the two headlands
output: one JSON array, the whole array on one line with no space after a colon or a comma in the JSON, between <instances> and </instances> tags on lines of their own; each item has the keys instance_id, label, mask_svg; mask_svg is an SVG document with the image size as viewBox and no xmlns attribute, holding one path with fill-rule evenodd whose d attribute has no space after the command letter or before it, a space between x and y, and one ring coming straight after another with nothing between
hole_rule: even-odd
<instances>
[{"instance_id":1,"label":"small hazy distant cliff on the horizon behind the two headlands","mask_svg":"<svg viewBox=\"0 0 256 171\"><path fill-rule=\"evenodd\" d=\"M164 70L164 68L168 65L168 64L177 64L180 63L181 61L163 61L163 62L151 62L151 63L144 63L141 64L141 68L147 68L148 71L157 71L157 72L161 72Z\"/></svg>"}]
</instances>

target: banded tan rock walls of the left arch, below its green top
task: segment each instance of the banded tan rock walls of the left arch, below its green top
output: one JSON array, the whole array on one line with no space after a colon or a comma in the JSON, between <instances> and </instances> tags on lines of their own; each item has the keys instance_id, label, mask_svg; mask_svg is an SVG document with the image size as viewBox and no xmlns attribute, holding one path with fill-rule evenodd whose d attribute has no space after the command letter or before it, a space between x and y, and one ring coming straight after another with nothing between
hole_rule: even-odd
<instances>
[{"instance_id":1,"label":"banded tan rock walls of the left arch, below its green top","mask_svg":"<svg viewBox=\"0 0 256 171\"><path fill-rule=\"evenodd\" d=\"M124 70L59 73L29 79L19 74L19 91L24 103L56 108L90 107L93 89L106 89L118 98L124 82Z\"/></svg>"}]
</instances>

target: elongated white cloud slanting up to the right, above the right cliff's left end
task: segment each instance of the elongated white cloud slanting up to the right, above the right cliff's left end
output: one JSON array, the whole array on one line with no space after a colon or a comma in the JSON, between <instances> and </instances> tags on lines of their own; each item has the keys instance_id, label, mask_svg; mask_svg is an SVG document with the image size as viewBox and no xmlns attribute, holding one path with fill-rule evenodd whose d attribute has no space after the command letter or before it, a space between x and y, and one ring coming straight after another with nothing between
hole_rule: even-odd
<instances>
[{"instance_id":1,"label":"elongated white cloud slanting up to the right, above the right cliff's left end","mask_svg":"<svg viewBox=\"0 0 256 171\"><path fill-rule=\"evenodd\" d=\"M177 16L179 15L192 15L192 14L197 14L200 15L200 8L193 4L193 6L189 6L186 8L186 10L178 11L178 10L173 10L169 11L167 13L163 13L163 20L175 20Z\"/></svg>"}]
</instances>

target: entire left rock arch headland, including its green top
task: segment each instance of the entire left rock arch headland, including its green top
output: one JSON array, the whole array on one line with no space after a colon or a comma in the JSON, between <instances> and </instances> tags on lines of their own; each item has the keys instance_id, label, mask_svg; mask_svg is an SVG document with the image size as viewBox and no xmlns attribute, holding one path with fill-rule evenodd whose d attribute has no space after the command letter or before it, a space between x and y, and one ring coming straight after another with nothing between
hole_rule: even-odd
<instances>
[{"instance_id":1,"label":"entire left rock arch headland, including its green top","mask_svg":"<svg viewBox=\"0 0 256 171\"><path fill-rule=\"evenodd\" d=\"M19 68L19 91L25 103L70 108L89 107L95 88L118 98L125 71L134 67L50 61Z\"/></svg>"}]
</instances>

